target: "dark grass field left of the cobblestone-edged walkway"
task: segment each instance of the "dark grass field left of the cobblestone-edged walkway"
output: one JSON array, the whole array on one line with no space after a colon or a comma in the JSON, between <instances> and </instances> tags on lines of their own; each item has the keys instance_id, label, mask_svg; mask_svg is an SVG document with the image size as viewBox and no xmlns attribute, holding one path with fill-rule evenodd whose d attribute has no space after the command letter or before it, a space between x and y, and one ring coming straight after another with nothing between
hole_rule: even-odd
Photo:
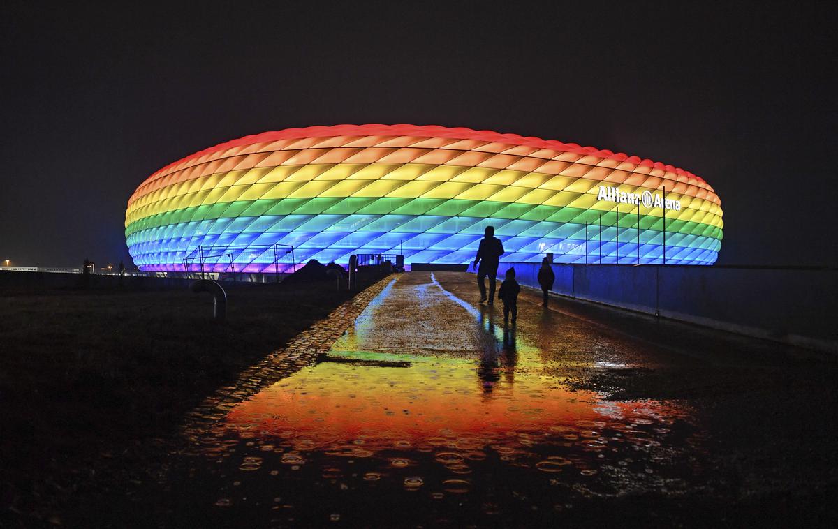
<instances>
[{"instance_id":1,"label":"dark grass field left of the cobblestone-edged walkway","mask_svg":"<svg viewBox=\"0 0 838 529\"><path fill-rule=\"evenodd\" d=\"M6 514L48 519L102 461L173 434L203 398L349 298L331 282L225 288L223 325L209 295L185 289L0 291Z\"/></svg>"}]
</instances>

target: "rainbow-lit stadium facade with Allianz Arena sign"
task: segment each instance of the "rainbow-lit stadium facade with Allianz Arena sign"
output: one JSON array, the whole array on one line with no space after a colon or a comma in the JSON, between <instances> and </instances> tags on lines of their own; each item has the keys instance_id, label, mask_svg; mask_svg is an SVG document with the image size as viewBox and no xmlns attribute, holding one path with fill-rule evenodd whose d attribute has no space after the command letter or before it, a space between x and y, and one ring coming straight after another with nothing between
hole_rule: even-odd
<instances>
[{"instance_id":1,"label":"rainbow-lit stadium facade with Allianz Arena sign","mask_svg":"<svg viewBox=\"0 0 838 529\"><path fill-rule=\"evenodd\" d=\"M341 125L197 152L142 182L126 213L135 264L158 271L285 272L351 254L464 264L488 225L501 261L550 252L557 263L711 265L722 208L691 172L621 153L465 128Z\"/></svg>"}]
</instances>

